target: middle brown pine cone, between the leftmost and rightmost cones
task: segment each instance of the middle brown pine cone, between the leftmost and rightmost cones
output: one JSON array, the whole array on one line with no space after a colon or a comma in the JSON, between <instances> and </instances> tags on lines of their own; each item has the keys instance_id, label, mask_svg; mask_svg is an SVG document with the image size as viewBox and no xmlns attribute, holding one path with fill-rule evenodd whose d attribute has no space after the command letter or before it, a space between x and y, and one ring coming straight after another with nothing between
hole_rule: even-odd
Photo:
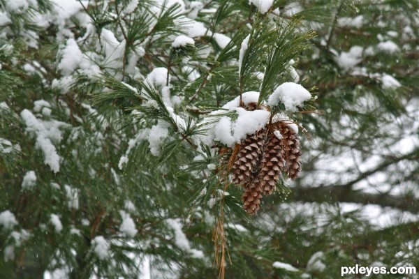
<instances>
[{"instance_id":1,"label":"middle brown pine cone, between the leftmost and rightmost cones","mask_svg":"<svg viewBox=\"0 0 419 279\"><path fill-rule=\"evenodd\" d=\"M285 165L285 150L282 140L279 140L275 132L270 133L263 155L262 169L260 169L259 180L263 195L271 195L275 190L275 184L279 180L282 169ZM280 135L280 134L279 134Z\"/></svg>"}]
</instances>

